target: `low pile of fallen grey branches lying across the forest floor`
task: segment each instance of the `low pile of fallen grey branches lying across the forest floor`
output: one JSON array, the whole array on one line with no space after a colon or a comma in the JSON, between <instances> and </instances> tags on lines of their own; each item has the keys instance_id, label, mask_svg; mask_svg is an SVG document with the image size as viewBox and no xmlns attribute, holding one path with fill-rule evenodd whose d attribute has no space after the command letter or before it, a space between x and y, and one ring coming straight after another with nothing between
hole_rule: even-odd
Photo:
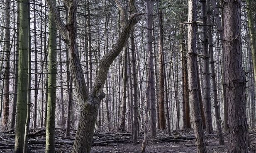
<instances>
[{"instance_id":1,"label":"low pile of fallen grey branches lying across the forest floor","mask_svg":"<svg viewBox=\"0 0 256 153\"><path fill-rule=\"evenodd\" d=\"M188 135L189 134L189 135ZM72 146L74 144L76 135L76 129L71 129L71 136L65 136L64 128L55 129L55 147L59 148L59 152L71 152ZM195 138L193 132L191 131L173 131L174 136L168 136L166 132L158 132L157 138L149 139L151 142L186 142ZM43 152L45 150L45 137L46 137L46 128L34 128L29 131L29 148L37 150L36 152ZM144 134L140 133L138 137L138 142L143 141ZM97 132L93 137L92 146L108 146L115 145L118 143L132 143L132 134L131 133L111 133L111 132ZM0 150L2 152L10 152L14 149L15 144L15 130L11 129L9 131L0 132Z\"/></svg>"}]
</instances>

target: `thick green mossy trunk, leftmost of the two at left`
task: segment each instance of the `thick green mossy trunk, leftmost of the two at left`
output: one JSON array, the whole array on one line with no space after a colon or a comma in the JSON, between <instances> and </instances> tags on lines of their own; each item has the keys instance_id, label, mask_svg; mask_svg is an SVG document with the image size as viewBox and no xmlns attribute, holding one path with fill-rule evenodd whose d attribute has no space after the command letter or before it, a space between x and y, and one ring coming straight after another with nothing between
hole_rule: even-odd
<instances>
[{"instance_id":1,"label":"thick green mossy trunk, leftmost of the two at left","mask_svg":"<svg viewBox=\"0 0 256 153\"><path fill-rule=\"evenodd\" d=\"M17 114L15 129L15 153L23 152L24 132L27 118L27 84L29 55L29 1L20 0L19 71L17 91Z\"/></svg>"}]
</instances>

